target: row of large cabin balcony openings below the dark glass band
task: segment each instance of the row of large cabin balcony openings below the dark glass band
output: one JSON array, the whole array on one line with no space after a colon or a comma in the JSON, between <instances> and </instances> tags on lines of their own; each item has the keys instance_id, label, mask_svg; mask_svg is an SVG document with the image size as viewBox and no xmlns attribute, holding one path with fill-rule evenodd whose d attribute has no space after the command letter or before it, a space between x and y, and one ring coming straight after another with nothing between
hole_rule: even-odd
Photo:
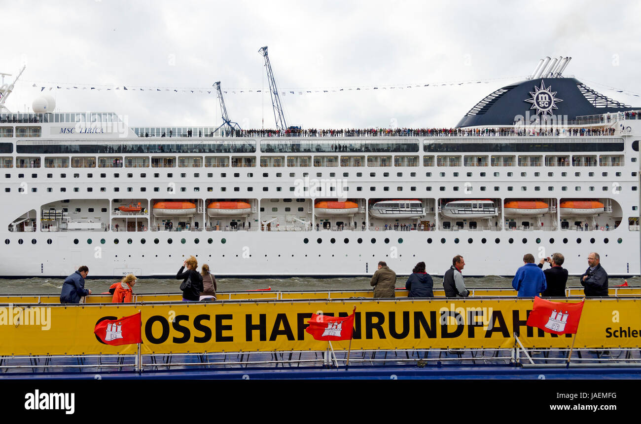
<instances>
[{"instance_id":1,"label":"row of large cabin balcony openings below the dark glass band","mask_svg":"<svg viewBox=\"0 0 641 424\"><path fill-rule=\"evenodd\" d=\"M2 143L0 143L0 148ZM3 151L0 153L10 153ZM631 158L636 159L636 158ZM635 162L633 160L633 162ZM199 167L256 167L255 157L16 157L17 168L199 168ZM616 167L625 165L624 155L465 155L424 156L424 167ZM315 156L260 157L261 167L417 167L418 156ZM0 167L13 167L13 157L0 157Z\"/></svg>"}]
</instances>

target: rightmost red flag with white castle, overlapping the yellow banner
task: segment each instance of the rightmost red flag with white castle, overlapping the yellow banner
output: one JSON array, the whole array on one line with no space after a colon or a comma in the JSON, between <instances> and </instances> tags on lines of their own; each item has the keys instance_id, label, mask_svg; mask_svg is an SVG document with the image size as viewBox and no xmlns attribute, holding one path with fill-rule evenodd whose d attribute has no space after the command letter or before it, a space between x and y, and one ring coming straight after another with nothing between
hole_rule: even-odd
<instances>
[{"instance_id":1,"label":"rightmost red flag with white castle, overlapping the yellow banner","mask_svg":"<svg viewBox=\"0 0 641 424\"><path fill-rule=\"evenodd\" d=\"M576 334L583 311L584 300L578 303L553 302L534 298L534 307L528 325L553 334Z\"/></svg>"}]
</instances>

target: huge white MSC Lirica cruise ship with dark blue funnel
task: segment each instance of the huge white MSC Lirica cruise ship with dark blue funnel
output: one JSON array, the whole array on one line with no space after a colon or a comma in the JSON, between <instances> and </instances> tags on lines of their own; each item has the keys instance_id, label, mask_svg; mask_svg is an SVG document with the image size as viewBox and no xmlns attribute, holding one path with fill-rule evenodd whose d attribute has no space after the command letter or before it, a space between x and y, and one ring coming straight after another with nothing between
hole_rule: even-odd
<instances>
[{"instance_id":1,"label":"huge white MSC Lirica cruise ship with dark blue funnel","mask_svg":"<svg viewBox=\"0 0 641 424\"><path fill-rule=\"evenodd\" d=\"M641 108L541 60L455 128L223 131L0 114L6 278L513 275L524 253L639 275ZM6 98L6 96L5 96ZM461 105L462 113L467 110Z\"/></svg>"}]
</instances>

